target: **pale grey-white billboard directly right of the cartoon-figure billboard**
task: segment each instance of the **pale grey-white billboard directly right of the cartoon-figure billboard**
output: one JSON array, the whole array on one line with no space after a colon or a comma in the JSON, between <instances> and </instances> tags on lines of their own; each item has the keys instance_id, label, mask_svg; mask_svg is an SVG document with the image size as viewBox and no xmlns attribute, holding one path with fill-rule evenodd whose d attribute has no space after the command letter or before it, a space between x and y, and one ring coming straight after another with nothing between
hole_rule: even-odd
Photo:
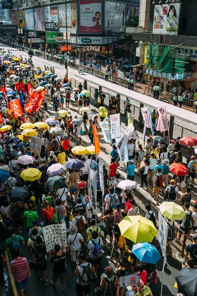
<instances>
[{"instance_id":1,"label":"pale grey-white billboard directly right of the cartoon-figure billboard","mask_svg":"<svg viewBox=\"0 0 197 296\"><path fill-rule=\"evenodd\" d=\"M105 1L105 31L125 32L125 3Z\"/></svg>"}]
</instances>

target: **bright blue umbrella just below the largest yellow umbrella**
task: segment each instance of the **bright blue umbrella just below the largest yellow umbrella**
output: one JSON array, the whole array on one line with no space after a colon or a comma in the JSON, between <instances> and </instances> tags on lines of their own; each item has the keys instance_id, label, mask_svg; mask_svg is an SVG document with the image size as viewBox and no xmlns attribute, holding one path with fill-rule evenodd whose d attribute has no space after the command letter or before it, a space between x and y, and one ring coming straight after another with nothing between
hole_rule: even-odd
<instances>
[{"instance_id":1,"label":"bright blue umbrella just below the largest yellow umbrella","mask_svg":"<svg viewBox=\"0 0 197 296\"><path fill-rule=\"evenodd\" d=\"M132 253L141 261L156 264L162 257L155 246L145 242L132 247Z\"/></svg>"}]
</instances>

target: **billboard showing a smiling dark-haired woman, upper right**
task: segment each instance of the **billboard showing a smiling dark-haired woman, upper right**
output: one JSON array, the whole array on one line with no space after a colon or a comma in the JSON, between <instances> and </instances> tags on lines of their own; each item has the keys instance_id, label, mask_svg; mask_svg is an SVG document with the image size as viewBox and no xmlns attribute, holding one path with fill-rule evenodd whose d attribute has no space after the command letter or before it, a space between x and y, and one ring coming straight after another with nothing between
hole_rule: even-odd
<instances>
[{"instance_id":1,"label":"billboard showing a smiling dark-haired woman, upper right","mask_svg":"<svg viewBox=\"0 0 197 296\"><path fill-rule=\"evenodd\" d=\"M181 3L155 5L153 34L178 34Z\"/></svg>"}]
</instances>

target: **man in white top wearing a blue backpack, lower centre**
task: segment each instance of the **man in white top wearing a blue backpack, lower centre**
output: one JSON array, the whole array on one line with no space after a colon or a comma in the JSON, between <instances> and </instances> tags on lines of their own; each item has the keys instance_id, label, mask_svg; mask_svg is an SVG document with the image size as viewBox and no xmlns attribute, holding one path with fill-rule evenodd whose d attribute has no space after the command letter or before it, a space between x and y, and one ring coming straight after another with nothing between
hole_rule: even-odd
<instances>
[{"instance_id":1,"label":"man in white top wearing a blue backpack, lower centre","mask_svg":"<svg viewBox=\"0 0 197 296\"><path fill-rule=\"evenodd\" d=\"M92 264L93 277L97 278L97 271L102 259L102 239L98 237L98 232L92 232L92 239L88 244L86 258L89 257L88 262ZM94 266L95 265L95 266Z\"/></svg>"}]
</instances>

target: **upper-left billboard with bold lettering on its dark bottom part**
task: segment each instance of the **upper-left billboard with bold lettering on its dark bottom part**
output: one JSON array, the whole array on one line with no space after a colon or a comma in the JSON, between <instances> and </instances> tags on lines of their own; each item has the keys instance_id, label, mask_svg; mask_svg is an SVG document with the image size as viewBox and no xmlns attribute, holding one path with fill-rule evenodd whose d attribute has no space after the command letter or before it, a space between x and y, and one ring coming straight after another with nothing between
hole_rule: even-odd
<instances>
[{"instance_id":1,"label":"upper-left billboard with bold lettering on its dark bottom part","mask_svg":"<svg viewBox=\"0 0 197 296\"><path fill-rule=\"evenodd\" d=\"M59 31L58 5L44 7L46 31Z\"/></svg>"}]
</instances>

